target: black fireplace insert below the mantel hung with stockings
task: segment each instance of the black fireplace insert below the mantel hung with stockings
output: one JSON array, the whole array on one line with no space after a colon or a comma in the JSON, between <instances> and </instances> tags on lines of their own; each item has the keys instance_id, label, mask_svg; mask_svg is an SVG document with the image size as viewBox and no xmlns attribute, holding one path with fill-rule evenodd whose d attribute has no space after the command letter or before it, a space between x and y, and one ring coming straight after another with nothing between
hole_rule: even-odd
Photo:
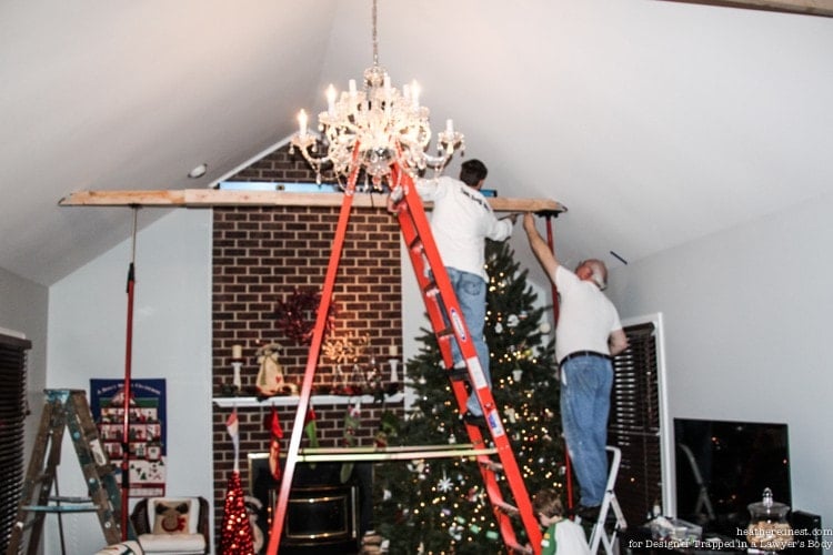
<instances>
[{"instance_id":1,"label":"black fireplace insert below the mantel hung with stockings","mask_svg":"<svg viewBox=\"0 0 833 555\"><path fill-rule=\"evenodd\" d=\"M264 553L281 483L269 471L268 453L249 455L249 476L250 495L260 505L257 526L264 544L257 553ZM372 528L371 495L371 464L298 463L283 522L281 553L358 553L360 538Z\"/></svg>"}]
</instances>

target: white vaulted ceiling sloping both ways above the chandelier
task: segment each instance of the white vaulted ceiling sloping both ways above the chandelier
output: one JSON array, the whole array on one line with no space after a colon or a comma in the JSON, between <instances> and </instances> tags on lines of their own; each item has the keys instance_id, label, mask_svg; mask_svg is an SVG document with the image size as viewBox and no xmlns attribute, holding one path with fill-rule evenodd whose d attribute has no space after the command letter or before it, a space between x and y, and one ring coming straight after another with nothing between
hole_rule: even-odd
<instances>
[{"instance_id":1,"label":"white vaulted ceiling sloping both ways above the chandelier","mask_svg":"<svg viewBox=\"0 0 833 555\"><path fill-rule=\"evenodd\" d=\"M570 209L568 252L639 260L833 184L830 18L380 0L379 51L434 128L454 119L489 188ZM61 198L210 186L371 62L370 0L0 3L0 268L54 283L132 224Z\"/></svg>"}]
</instances>

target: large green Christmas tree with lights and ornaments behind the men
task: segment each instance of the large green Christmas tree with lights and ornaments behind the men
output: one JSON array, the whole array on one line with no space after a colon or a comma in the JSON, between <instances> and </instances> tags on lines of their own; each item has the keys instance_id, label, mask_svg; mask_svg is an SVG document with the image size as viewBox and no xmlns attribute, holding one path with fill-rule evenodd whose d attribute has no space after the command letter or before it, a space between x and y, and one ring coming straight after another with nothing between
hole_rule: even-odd
<instances>
[{"instance_id":1,"label":"large green Christmas tree with lights and ornaments behind the men","mask_svg":"<svg viewBox=\"0 0 833 555\"><path fill-rule=\"evenodd\" d=\"M488 243L490 275L486 342L491 351L492 395L502 415L530 497L542 487L563 488L563 441L554 342L536 306L536 294L503 243ZM407 363L416 394L390 444L408 446L469 442L435 336L423 330L419 355ZM491 437L483 431L488 443ZM500 475L499 475L500 476ZM478 464L470 458L426 458L377 466L374 524L390 541L390 553L505 553L483 491ZM501 481L503 498L514 503ZM515 517L515 534L526 543Z\"/></svg>"}]
</instances>

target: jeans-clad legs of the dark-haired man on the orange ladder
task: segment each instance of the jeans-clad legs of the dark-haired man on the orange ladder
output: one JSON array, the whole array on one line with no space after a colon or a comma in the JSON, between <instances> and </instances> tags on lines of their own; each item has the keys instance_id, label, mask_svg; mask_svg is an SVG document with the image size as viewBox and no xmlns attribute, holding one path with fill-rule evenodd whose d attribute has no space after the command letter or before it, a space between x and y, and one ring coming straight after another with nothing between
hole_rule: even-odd
<instances>
[{"instance_id":1,"label":"jeans-clad legs of the dark-haired man on the orange ladder","mask_svg":"<svg viewBox=\"0 0 833 555\"><path fill-rule=\"evenodd\" d=\"M489 346L483 336L483 326L485 325L486 283L480 275L470 272L461 272L454 268L446 266L445 272L449 274L451 285L454 287L454 294L460 304L460 310L463 313L465 326L469 329L471 342L478 352L480 365L483 367L483 375L485 376L489 387L491 387L492 375L489 372ZM451 342L451 355L454 363L463 360L456 341ZM469 395L469 401L465 406L474 415L483 414L483 410L478 402L478 396L474 394Z\"/></svg>"}]
</instances>

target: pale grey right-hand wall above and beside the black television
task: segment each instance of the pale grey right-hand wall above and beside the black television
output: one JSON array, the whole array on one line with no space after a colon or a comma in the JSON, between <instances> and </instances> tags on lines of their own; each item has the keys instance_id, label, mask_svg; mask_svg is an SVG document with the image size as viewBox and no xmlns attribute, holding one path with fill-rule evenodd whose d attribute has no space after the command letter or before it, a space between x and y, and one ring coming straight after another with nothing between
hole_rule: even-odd
<instances>
[{"instance_id":1,"label":"pale grey right-hand wall above and beside the black television","mask_svg":"<svg viewBox=\"0 0 833 555\"><path fill-rule=\"evenodd\" d=\"M609 290L623 317L663 313L671 417L789 425L793 508L826 527L832 210L825 196L702 238L616 269Z\"/></svg>"}]
</instances>

